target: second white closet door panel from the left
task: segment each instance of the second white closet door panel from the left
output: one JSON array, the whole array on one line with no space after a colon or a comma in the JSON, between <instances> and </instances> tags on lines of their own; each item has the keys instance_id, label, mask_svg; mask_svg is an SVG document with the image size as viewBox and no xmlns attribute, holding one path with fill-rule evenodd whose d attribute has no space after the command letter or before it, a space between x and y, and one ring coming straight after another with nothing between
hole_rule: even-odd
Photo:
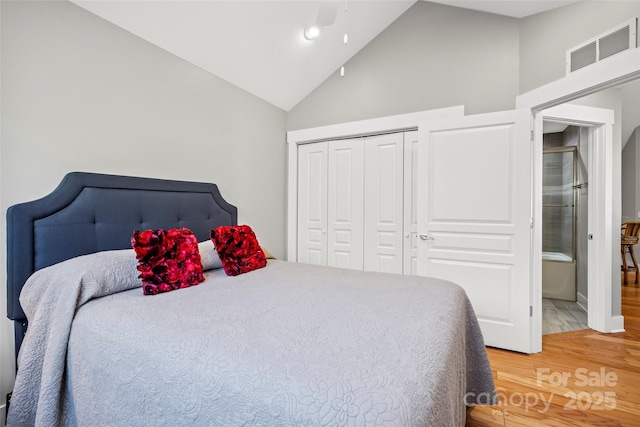
<instances>
[{"instance_id":1,"label":"second white closet door panel from the left","mask_svg":"<svg viewBox=\"0 0 640 427\"><path fill-rule=\"evenodd\" d=\"M329 142L328 265L363 269L364 146Z\"/></svg>"}]
</instances>

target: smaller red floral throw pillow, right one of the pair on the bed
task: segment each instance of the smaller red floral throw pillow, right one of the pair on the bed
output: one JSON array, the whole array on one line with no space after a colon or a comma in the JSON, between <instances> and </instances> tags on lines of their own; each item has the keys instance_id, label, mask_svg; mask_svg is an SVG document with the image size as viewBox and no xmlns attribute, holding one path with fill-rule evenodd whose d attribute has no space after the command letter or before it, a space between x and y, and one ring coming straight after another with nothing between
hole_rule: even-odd
<instances>
[{"instance_id":1,"label":"smaller red floral throw pillow, right one of the pair on the bed","mask_svg":"<svg viewBox=\"0 0 640 427\"><path fill-rule=\"evenodd\" d=\"M237 276L267 265L258 239L248 225L218 227L211 230L211 240L228 276Z\"/></svg>"}]
</instances>

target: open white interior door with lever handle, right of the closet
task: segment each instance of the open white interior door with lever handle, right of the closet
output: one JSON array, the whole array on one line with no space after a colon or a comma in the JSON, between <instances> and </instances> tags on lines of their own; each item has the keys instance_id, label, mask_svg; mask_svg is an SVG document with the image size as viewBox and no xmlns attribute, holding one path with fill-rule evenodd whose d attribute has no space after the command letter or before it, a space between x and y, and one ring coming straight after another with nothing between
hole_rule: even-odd
<instances>
[{"instance_id":1,"label":"open white interior door with lever handle, right of the closet","mask_svg":"<svg viewBox=\"0 0 640 427\"><path fill-rule=\"evenodd\" d=\"M462 286L485 343L531 351L531 116L420 126L418 274Z\"/></svg>"}]
</instances>

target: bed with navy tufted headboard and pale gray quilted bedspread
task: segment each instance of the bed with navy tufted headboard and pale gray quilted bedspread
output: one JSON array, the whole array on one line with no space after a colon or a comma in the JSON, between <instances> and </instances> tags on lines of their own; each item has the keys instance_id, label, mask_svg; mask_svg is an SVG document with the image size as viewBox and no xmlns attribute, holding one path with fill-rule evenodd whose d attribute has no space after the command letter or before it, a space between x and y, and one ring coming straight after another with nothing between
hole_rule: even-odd
<instances>
[{"instance_id":1,"label":"bed with navy tufted headboard and pale gray quilted bedspread","mask_svg":"<svg viewBox=\"0 0 640 427\"><path fill-rule=\"evenodd\" d=\"M214 184L82 172L10 207L8 425L463 426L495 403L459 286L276 259L229 276L210 232L236 224ZM144 295L132 233L171 228L205 280Z\"/></svg>"}]
</instances>

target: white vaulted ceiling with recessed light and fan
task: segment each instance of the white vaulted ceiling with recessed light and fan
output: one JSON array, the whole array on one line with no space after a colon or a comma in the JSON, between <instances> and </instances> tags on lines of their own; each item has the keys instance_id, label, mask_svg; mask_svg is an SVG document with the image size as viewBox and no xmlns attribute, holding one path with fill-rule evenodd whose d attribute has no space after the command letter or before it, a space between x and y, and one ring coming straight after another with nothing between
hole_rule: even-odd
<instances>
[{"instance_id":1,"label":"white vaulted ceiling with recessed light and fan","mask_svg":"<svg viewBox=\"0 0 640 427\"><path fill-rule=\"evenodd\" d=\"M284 111L339 72L416 2L71 1ZM435 2L520 18L575 0ZM324 24L321 33L307 40L304 29L315 23Z\"/></svg>"}]
</instances>

